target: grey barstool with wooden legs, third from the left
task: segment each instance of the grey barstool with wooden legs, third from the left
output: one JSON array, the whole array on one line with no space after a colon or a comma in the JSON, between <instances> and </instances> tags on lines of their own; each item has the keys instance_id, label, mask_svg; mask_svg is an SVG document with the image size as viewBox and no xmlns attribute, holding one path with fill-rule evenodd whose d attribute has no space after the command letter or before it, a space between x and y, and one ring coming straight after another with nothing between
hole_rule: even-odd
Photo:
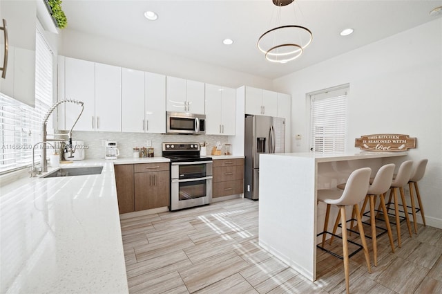
<instances>
[{"instance_id":1,"label":"grey barstool with wooden legs, third from the left","mask_svg":"<svg viewBox=\"0 0 442 294\"><path fill-rule=\"evenodd\" d=\"M399 167L398 174L396 178L393 179L392 185L390 186L390 197L387 203L387 210L390 210L390 204L392 203L392 196L394 196L394 214L396 217L396 230L398 234L398 247L401 248L401 220L399 219L399 207L398 207L398 196L396 193L396 188L399 188L401 192L401 200L403 205L403 212L405 214L405 220L407 221L408 233L412 237L412 228L410 225L410 219L408 218L407 203L405 202L405 194L403 192L403 187L407 185L410 181L412 175L413 160L407 160L401 163Z\"/></svg>"}]
</instances>

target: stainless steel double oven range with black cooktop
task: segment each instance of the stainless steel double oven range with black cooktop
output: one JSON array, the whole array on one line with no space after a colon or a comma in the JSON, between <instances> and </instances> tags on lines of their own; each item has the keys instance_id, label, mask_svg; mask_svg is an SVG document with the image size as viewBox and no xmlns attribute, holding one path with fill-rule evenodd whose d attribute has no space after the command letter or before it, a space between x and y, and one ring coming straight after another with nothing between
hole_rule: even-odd
<instances>
[{"instance_id":1,"label":"stainless steel double oven range with black cooktop","mask_svg":"<svg viewBox=\"0 0 442 294\"><path fill-rule=\"evenodd\" d=\"M162 156L171 160L170 210L211 203L213 160L198 143L162 143Z\"/></svg>"}]
</instances>

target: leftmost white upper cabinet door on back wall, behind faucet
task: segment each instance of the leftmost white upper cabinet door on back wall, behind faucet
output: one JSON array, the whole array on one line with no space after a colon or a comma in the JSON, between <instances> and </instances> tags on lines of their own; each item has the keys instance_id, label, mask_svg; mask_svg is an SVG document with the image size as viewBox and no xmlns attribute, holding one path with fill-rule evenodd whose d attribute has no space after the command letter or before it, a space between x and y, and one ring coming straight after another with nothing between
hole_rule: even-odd
<instances>
[{"instance_id":1,"label":"leftmost white upper cabinet door on back wall, behind faucet","mask_svg":"<svg viewBox=\"0 0 442 294\"><path fill-rule=\"evenodd\" d=\"M59 62L62 62L62 59ZM70 57L64 58L64 97L59 97L59 100L62 99L84 102L84 111L79 117L77 124L75 124L75 131L95 130L94 62ZM61 110L60 107L59 111ZM70 130L73 127L80 111L81 107L78 104L64 103L64 129Z\"/></svg>"}]
</instances>

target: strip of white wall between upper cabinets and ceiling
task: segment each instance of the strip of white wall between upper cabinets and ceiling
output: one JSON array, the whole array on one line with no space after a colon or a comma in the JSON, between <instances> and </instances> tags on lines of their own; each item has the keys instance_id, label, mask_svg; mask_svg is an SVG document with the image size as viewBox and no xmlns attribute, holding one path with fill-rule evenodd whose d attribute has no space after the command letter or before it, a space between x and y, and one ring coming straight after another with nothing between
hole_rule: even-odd
<instances>
[{"instance_id":1,"label":"strip of white wall between upper cabinets and ceiling","mask_svg":"<svg viewBox=\"0 0 442 294\"><path fill-rule=\"evenodd\" d=\"M177 55L148 50L97 37L76 30L64 29L61 33L59 55L93 62L161 73L173 77L238 88L242 85L271 89L272 81L263 77L231 71L227 68L195 62Z\"/></svg>"}]
</instances>

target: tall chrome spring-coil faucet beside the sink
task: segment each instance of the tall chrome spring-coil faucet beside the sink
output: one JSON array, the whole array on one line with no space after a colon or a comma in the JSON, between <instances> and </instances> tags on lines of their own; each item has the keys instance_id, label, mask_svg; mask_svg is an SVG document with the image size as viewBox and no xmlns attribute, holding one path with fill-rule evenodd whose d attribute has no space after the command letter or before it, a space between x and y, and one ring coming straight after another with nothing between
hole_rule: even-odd
<instances>
[{"instance_id":1,"label":"tall chrome spring-coil faucet beside the sink","mask_svg":"<svg viewBox=\"0 0 442 294\"><path fill-rule=\"evenodd\" d=\"M41 149L41 172L48 172L48 162L46 161L46 146L45 146L45 144L48 143L48 141L58 141L58 142L64 141L64 140L59 140L59 139L46 138L48 136L48 134L46 132L46 125L48 125L48 119L49 119L50 114L59 106L59 104L65 103L65 102L79 104L81 106L81 111L68 133L68 144L66 144L66 146L64 148L65 151L70 152L70 157L72 157L72 154L75 152L75 147L73 147L73 145L72 145L72 130L75 127L75 124L77 124L78 119L81 116L81 113L83 113L84 103L81 101L78 101L78 100L70 100L70 99L59 100L59 101L55 102L55 104L53 104L52 107L50 107L50 109L48 109L48 111L46 112L46 115L44 116L44 119L43 119L43 125L42 125L42 138L43 138L43 140L41 140L41 142L40 142L40 143L44 144L43 148ZM40 143L37 143L37 144L40 144ZM34 161L34 149L32 148L32 162L33 161ZM34 164L32 164L32 169L34 169ZM31 174L31 176L32 176L32 174Z\"/></svg>"}]
</instances>

